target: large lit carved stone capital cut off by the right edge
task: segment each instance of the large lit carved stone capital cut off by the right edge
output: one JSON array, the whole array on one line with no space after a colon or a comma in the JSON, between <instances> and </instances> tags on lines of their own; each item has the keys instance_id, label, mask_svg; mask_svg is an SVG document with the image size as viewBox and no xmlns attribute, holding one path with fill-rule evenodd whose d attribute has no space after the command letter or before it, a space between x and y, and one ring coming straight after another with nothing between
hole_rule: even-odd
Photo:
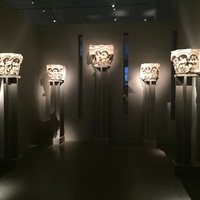
<instances>
[{"instance_id":1,"label":"large lit carved stone capital cut off by the right edge","mask_svg":"<svg viewBox=\"0 0 200 200\"><path fill-rule=\"evenodd\" d=\"M171 61L176 74L199 73L200 49L178 49L171 51Z\"/></svg>"}]
</instances>

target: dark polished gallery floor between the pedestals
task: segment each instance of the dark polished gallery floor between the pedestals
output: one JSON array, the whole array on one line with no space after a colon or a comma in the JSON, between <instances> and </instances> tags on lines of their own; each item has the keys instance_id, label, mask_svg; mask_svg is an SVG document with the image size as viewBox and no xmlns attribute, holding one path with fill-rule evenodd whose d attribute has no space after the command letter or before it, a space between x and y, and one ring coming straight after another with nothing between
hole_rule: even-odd
<instances>
[{"instance_id":1,"label":"dark polished gallery floor between the pedestals","mask_svg":"<svg viewBox=\"0 0 200 200\"><path fill-rule=\"evenodd\" d=\"M1 200L190 200L160 149L65 142L0 178Z\"/></svg>"}]
</instances>

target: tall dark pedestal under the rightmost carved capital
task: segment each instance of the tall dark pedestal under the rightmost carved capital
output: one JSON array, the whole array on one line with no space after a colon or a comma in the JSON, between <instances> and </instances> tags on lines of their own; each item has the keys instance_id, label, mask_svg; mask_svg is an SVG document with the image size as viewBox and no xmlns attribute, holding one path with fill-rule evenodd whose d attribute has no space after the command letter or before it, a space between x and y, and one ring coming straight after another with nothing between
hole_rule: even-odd
<instances>
[{"instance_id":1,"label":"tall dark pedestal under the rightmost carved capital","mask_svg":"<svg viewBox=\"0 0 200 200\"><path fill-rule=\"evenodd\" d=\"M175 173L200 175L200 84L196 74L175 76Z\"/></svg>"}]
</instances>

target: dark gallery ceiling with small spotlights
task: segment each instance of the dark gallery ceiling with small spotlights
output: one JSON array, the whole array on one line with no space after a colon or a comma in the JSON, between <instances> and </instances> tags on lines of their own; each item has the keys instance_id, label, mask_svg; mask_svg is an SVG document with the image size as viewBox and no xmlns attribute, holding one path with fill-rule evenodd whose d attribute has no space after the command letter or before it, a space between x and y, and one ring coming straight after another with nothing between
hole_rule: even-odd
<instances>
[{"instance_id":1,"label":"dark gallery ceiling with small spotlights","mask_svg":"<svg viewBox=\"0 0 200 200\"><path fill-rule=\"evenodd\" d=\"M2 0L38 25L173 20L178 0Z\"/></svg>"}]
</instances>

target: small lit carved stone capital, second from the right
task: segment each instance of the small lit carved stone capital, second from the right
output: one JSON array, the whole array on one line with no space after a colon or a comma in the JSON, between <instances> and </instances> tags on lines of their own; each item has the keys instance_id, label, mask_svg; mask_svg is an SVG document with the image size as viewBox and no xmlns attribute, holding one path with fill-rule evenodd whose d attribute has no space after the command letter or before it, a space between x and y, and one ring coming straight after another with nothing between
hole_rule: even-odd
<instances>
[{"instance_id":1,"label":"small lit carved stone capital, second from the right","mask_svg":"<svg viewBox=\"0 0 200 200\"><path fill-rule=\"evenodd\" d=\"M140 67L140 78L143 81L157 81L159 78L159 63L143 63Z\"/></svg>"}]
</instances>

